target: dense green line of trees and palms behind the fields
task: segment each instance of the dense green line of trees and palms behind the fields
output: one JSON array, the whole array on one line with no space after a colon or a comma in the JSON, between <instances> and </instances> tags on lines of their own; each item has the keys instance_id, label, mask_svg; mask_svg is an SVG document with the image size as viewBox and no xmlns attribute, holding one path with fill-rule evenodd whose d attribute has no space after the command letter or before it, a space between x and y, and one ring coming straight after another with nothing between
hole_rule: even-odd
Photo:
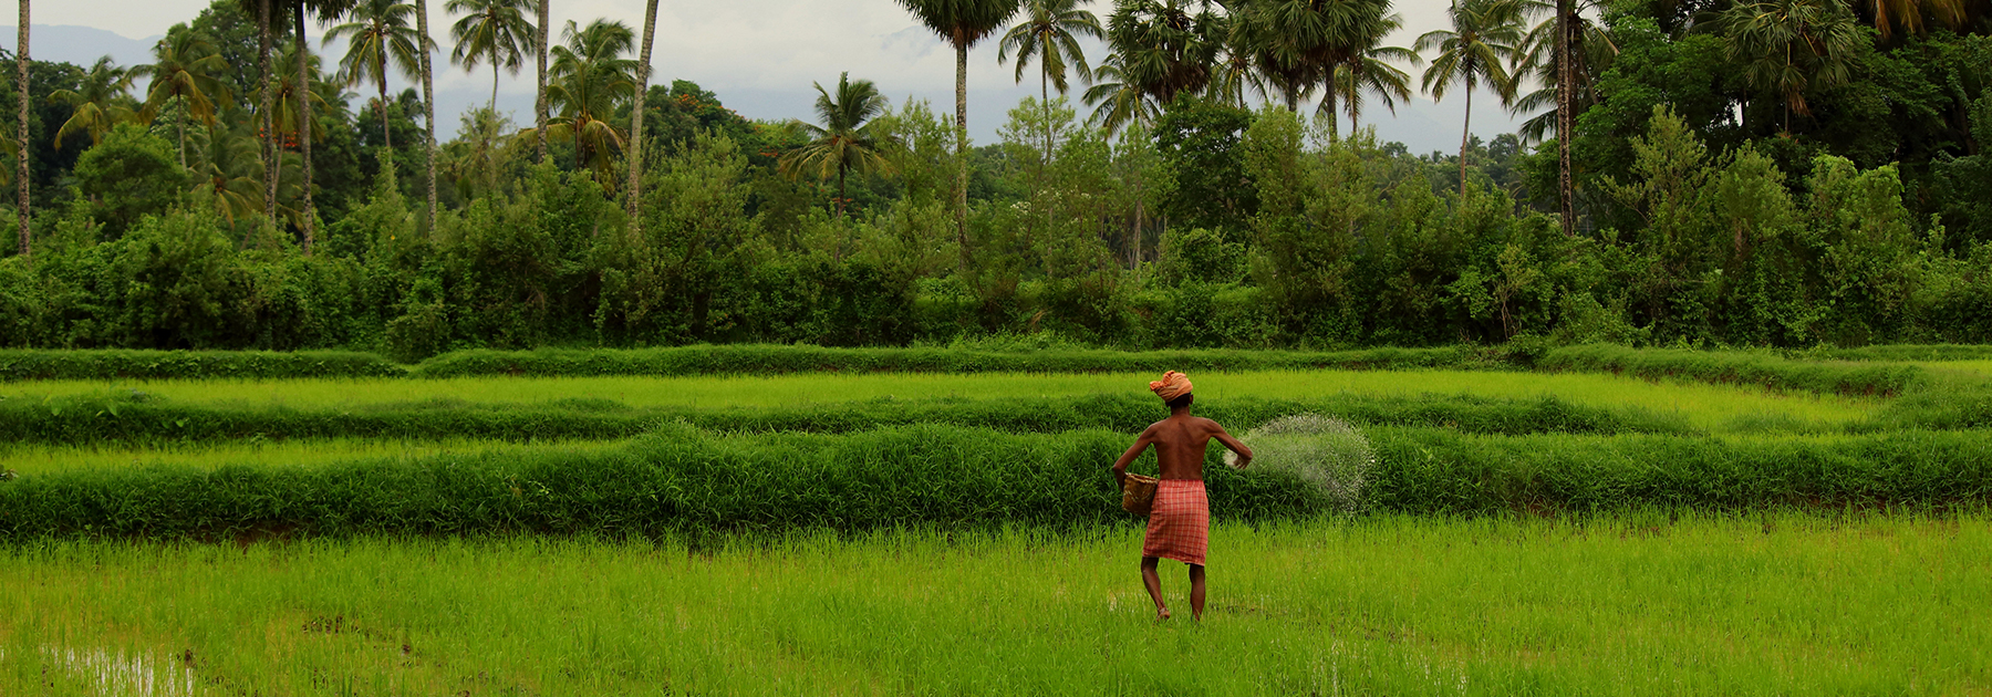
<instances>
[{"instance_id":1,"label":"dense green line of trees and palms behind the fields","mask_svg":"<svg viewBox=\"0 0 1992 697\"><path fill-rule=\"evenodd\" d=\"M1382 0L904 0L1040 82L974 145L962 82L952 117L841 76L817 123L751 121L649 86L649 26L450 0L456 66L544 90L434 147L386 90L444 50L418 6L275 4L147 66L28 64L0 345L1992 341L1982 2L1464 0L1406 50ZM1530 121L1378 143L1412 86Z\"/></svg>"}]
</instances>

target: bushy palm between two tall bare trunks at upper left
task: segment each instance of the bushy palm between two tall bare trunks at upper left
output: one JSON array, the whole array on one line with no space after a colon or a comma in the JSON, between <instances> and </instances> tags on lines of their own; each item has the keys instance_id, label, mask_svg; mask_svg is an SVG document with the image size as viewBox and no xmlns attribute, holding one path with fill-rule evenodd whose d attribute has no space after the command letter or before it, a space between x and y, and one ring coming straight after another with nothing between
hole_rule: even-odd
<instances>
[{"instance_id":1,"label":"bushy palm between two tall bare trunks at upper left","mask_svg":"<svg viewBox=\"0 0 1992 697\"><path fill-rule=\"evenodd\" d=\"M562 30L566 46L554 46L554 84L546 88L546 100L560 108L560 116L548 119L548 135L574 137L576 167L596 171L596 181L604 189L614 189L608 175L616 149L623 145L623 131L610 123L616 104L635 92L635 60L622 58L635 44L635 34L627 24L596 20L580 28L568 20Z\"/></svg>"}]
</instances>

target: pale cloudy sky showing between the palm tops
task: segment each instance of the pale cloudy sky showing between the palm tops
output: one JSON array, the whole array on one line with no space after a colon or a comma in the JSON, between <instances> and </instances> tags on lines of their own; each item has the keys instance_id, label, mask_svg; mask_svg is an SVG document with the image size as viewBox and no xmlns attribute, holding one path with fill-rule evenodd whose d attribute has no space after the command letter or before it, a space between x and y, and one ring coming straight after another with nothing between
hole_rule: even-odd
<instances>
[{"instance_id":1,"label":"pale cloudy sky showing between the palm tops","mask_svg":"<svg viewBox=\"0 0 1992 697\"><path fill-rule=\"evenodd\" d=\"M556 40L568 20L588 24L610 18L641 32L641 0L550 2ZM428 0L430 32L444 46L444 54L436 56L436 119L438 137L446 139L456 131L456 114L490 100L492 74L490 68L466 74L448 66L448 26L454 18L442 12L442 4L444 0ZM207 0L44 0L32 8L36 38L30 38L28 48L38 60L84 66L104 54L120 64L145 62L147 48L165 28L193 20L205 6ZM1410 46L1418 34L1442 28L1446 6L1446 0L1400 0L1396 12L1404 18L1404 30L1392 36L1392 44ZM1096 0L1092 10L1104 22L1112 2ZM323 36L319 26L307 32ZM12 28L0 28L0 46L12 50ZM1104 54L1100 44L1088 46L1090 62ZM908 98L928 100L936 112L952 114L954 104L954 52L892 0L661 0L651 66L655 84L697 82L725 106L755 119L809 119L817 98L811 84L835 84L839 72L874 82L894 106ZM996 141L1004 114L1022 98L1038 94L1036 72L1026 74L1020 86L1014 70L1014 64L996 62L994 38L970 52L968 129L974 141ZM1074 88L1072 98L1078 100L1076 80ZM530 121L532 102L530 62L518 76L500 76L500 112ZM1394 117L1370 106L1363 123L1376 125L1384 141L1402 141L1410 151L1426 153L1456 151L1462 117L1462 94L1452 90L1440 104L1416 96ZM1498 110L1488 94L1474 96L1476 135L1514 131L1518 121Z\"/></svg>"}]
</instances>

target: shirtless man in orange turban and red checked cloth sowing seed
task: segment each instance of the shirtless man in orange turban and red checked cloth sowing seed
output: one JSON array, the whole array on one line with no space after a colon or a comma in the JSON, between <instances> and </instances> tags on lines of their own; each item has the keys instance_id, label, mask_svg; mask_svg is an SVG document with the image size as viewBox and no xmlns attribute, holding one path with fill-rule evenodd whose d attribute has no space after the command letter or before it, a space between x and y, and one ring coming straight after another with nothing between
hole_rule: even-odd
<instances>
[{"instance_id":1,"label":"shirtless man in orange turban and red checked cloth sowing seed","mask_svg":"<svg viewBox=\"0 0 1992 697\"><path fill-rule=\"evenodd\" d=\"M1161 464L1161 482L1155 486L1155 506L1147 514L1147 538L1141 542L1141 583L1147 597L1155 601L1155 619L1169 619L1169 605L1161 601L1161 578L1155 564L1171 558L1189 564L1189 611L1203 619L1203 550L1209 544L1211 504L1203 496L1203 446L1217 442L1237 452L1237 466L1243 470L1251 462L1251 448L1217 426L1215 420L1189 416L1189 376L1169 370L1161 380L1147 384L1155 396L1169 404L1169 418L1157 420L1135 438L1114 462L1114 480L1127 488L1127 464L1141 456L1141 450L1155 446L1155 460Z\"/></svg>"}]
</instances>

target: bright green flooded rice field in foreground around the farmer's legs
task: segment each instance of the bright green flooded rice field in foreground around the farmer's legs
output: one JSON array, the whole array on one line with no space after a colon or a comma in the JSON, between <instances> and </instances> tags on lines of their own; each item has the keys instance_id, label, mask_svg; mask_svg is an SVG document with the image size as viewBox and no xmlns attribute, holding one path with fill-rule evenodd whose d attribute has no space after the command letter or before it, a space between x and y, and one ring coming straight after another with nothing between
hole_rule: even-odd
<instances>
[{"instance_id":1,"label":"bright green flooded rice field in foreground around the farmer's legs","mask_svg":"<svg viewBox=\"0 0 1992 697\"><path fill-rule=\"evenodd\" d=\"M681 542L60 542L0 552L0 693L1956 695L1992 518L1217 526L1149 619L1133 524ZM46 671L46 673L44 673ZM147 675L141 671L114 673ZM191 677L191 679L187 679Z\"/></svg>"}]
</instances>

